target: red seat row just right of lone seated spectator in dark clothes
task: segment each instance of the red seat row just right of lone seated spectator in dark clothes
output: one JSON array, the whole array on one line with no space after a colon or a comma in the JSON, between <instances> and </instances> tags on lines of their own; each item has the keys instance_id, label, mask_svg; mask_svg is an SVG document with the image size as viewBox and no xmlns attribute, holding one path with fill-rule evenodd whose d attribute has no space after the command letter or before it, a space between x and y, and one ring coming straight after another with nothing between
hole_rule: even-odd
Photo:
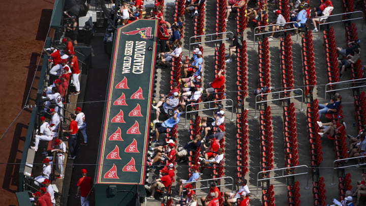
<instances>
[{"instance_id":1,"label":"red seat row just right of lone seated spectator in dark clothes","mask_svg":"<svg viewBox=\"0 0 366 206\"><path fill-rule=\"evenodd\" d=\"M236 48L236 106L244 105L248 95L248 55L247 41L242 42L241 48Z\"/></svg>"}]
</instances>

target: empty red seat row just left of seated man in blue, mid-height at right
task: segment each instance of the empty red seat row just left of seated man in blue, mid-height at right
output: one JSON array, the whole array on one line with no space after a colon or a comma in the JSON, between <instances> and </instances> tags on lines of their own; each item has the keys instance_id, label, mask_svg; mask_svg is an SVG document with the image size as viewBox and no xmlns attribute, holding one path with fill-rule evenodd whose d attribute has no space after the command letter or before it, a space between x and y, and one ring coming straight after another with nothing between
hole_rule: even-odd
<instances>
[{"instance_id":1,"label":"empty red seat row just left of seated man in blue, mid-height at right","mask_svg":"<svg viewBox=\"0 0 366 206\"><path fill-rule=\"evenodd\" d=\"M323 152L321 150L321 136L318 134L319 125L317 124L317 121L319 121L318 99L315 99L312 103L308 103L307 107L310 161L312 167L317 167L323 160Z\"/></svg>"}]
</instances>

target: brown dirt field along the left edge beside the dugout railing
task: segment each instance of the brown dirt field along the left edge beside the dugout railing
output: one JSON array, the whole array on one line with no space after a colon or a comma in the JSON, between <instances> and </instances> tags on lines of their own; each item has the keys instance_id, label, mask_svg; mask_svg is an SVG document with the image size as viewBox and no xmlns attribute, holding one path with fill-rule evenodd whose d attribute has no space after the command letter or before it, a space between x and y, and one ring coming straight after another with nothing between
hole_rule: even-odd
<instances>
[{"instance_id":1,"label":"brown dirt field along the left edge beside the dugout railing","mask_svg":"<svg viewBox=\"0 0 366 206\"><path fill-rule=\"evenodd\" d=\"M52 14L52 0L29 0L14 4L3 1L0 12L0 135L2 136L25 104ZM40 68L39 68L40 69ZM38 78L32 86L29 104L34 104ZM23 110L0 140L1 205L17 205L18 169L31 109Z\"/></svg>"}]
</instances>

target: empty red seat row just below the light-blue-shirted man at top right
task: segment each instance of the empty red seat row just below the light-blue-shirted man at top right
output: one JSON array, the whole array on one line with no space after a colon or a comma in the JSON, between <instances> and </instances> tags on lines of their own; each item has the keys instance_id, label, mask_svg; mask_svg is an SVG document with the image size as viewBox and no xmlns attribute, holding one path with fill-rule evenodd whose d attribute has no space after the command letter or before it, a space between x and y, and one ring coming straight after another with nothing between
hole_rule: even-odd
<instances>
[{"instance_id":1,"label":"empty red seat row just below the light-blue-shirted man at top right","mask_svg":"<svg viewBox=\"0 0 366 206\"><path fill-rule=\"evenodd\" d=\"M316 85L316 73L314 63L313 35L308 31L306 35L301 35L302 48L302 68L305 82L305 95L312 95Z\"/></svg>"}]
</instances>

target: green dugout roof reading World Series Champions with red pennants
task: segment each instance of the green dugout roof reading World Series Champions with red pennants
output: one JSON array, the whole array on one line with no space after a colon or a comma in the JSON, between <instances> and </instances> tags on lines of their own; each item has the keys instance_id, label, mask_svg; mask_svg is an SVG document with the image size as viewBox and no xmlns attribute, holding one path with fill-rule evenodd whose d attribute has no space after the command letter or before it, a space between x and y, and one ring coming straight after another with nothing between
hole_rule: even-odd
<instances>
[{"instance_id":1,"label":"green dugout roof reading World Series Champions with red pennants","mask_svg":"<svg viewBox=\"0 0 366 206\"><path fill-rule=\"evenodd\" d=\"M157 20L117 28L96 184L143 184L157 48Z\"/></svg>"}]
</instances>

